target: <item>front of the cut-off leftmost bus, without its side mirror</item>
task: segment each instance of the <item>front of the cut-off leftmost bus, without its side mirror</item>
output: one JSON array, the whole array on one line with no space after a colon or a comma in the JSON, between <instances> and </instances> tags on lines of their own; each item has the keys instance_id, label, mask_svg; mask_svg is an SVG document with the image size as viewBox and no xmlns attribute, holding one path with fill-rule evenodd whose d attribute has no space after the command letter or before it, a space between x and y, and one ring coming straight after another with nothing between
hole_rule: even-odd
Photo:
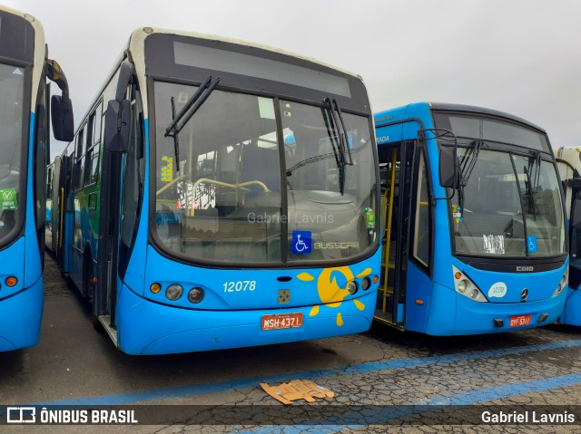
<instances>
[{"instance_id":1,"label":"front of the cut-off leftmost bus, without its side mirror","mask_svg":"<svg viewBox=\"0 0 581 434\"><path fill-rule=\"evenodd\" d=\"M34 152L32 82L40 73L33 66L34 25L24 14L4 9L0 21L0 351L10 351L38 342L43 308L29 158Z\"/></svg>"}]
</instances>

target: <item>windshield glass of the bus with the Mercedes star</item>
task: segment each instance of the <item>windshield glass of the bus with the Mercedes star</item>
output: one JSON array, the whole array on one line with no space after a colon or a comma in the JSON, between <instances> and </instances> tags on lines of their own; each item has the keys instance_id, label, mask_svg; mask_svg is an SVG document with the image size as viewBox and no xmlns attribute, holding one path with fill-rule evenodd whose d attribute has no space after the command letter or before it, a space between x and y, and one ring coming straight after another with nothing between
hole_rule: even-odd
<instances>
[{"instance_id":1,"label":"windshield glass of the bus with the Mercedes star","mask_svg":"<svg viewBox=\"0 0 581 434\"><path fill-rule=\"evenodd\" d=\"M458 158L467 153L458 149ZM458 208L459 194L451 209L457 253L522 257L564 252L561 196L551 162L481 149Z\"/></svg>"}]
</instances>

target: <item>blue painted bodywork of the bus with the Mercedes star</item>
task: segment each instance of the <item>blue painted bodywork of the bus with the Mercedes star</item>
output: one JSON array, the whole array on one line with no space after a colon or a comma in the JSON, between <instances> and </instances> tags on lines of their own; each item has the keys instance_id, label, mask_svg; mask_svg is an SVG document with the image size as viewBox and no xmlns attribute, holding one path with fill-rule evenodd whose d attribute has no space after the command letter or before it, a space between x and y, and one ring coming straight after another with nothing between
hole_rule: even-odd
<instances>
[{"instance_id":1,"label":"blue painted bodywork of the bus with the Mercedes star","mask_svg":"<svg viewBox=\"0 0 581 434\"><path fill-rule=\"evenodd\" d=\"M413 103L376 113L376 136L378 137L379 149L399 146L401 140L417 139L418 130L421 127L416 121L382 126L389 122L412 118L419 119L425 129L434 128L428 103ZM433 137L430 132L427 132L426 135L428 138ZM531 323L511 330L555 322L563 311L566 291L555 297L552 295L566 273L568 260L553 271L517 274L479 270L452 256L448 200L443 199L446 197L446 191L439 184L438 146L435 140L428 140L427 151L430 185L434 198L436 198L435 207L432 208L434 219L433 270L430 278L426 272L419 270L412 261L408 262L404 328L432 335L506 332L509 330L509 317L521 314L531 314ZM499 259L499 261L503 261L503 259ZM470 280L487 297L487 303L478 303L456 292L452 265L468 275ZM507 285L507 293L502 298L489 296L489 289L498 282ZM526 302L522 302L520 298L523 288L527 288L529 291ZM423 304L418 304L416 300L421 300ZM537 323L538 315L541 313L548 314L547 320ZM581 321L581 314L578 314L577 317ZM573 314L571 314L571 318L573 318ZM494 319L503 319L504 326L495 327Z\"/></svg>"}]
</instances>

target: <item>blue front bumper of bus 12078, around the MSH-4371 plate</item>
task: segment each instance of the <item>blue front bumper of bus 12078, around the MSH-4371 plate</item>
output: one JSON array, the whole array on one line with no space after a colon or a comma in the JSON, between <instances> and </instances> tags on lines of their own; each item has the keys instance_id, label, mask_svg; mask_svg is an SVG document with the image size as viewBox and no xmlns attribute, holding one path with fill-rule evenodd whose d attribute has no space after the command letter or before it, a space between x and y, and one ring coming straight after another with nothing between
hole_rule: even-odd
<instances>
[{"instance_id":1,"label":"blue front bumper of bus 12078, around the MSH-4371 plate","mask_svg":"<svg viewBox=\"0 0 581 434\"><path fill-rule=\"evenodd\" d=\"M281 342L320 339L369 329L375 308L375 293L359 297L365 309L352 303L338 308L320 306L310 316L311 306L271 310L194 311L156 304L139 297L123 285L117 304L119 348L128 354L164 354L222 350ZM261 330L265 313L303 313L300 328ZM337 313L343 325L337 325Z\"/></svg>"}]
</instances>

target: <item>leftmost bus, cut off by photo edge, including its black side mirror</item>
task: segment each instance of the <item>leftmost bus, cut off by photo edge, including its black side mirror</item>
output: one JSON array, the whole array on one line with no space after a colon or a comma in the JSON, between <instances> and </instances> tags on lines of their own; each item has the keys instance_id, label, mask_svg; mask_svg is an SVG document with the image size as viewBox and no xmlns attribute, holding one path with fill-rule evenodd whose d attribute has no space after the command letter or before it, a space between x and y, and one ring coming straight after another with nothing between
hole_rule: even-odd
<instances>
[{"instance_id":1,"label":"leftmost bus, cut off by photo edge, including its black side mirror","mask_svg":"<svg viewBox=\"0 0 581 434\"><path fill-rule=\"evenodd\" d=\"M40 22L0 6L0 352L40 333L49 105L55 139L74 131L66 78L47 54ZM50 104L47 79L63 91Z\"/></svg>"}]
</instances>

